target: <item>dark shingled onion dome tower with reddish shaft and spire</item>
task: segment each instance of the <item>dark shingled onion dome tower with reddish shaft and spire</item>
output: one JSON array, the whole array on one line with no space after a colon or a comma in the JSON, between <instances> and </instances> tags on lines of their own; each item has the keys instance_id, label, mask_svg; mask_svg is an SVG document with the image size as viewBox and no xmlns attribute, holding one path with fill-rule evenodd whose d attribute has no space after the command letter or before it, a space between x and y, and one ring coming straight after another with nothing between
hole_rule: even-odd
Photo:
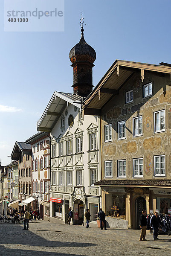
<instances>
[{"instance_id":1,"label":"dark shingled onion dome tower with reddish shaft and spire","mask_svg":"<svg viewBox=\"0 0 171 256\"><path fill-rule=\"evenodd\" d=\"M87 97L93 90L93 62L96 60L96 52L84 40L83 15L81 15L81 39L70 50L70 61L73 67L74 94Z\"/></svg>"}]
</instances>

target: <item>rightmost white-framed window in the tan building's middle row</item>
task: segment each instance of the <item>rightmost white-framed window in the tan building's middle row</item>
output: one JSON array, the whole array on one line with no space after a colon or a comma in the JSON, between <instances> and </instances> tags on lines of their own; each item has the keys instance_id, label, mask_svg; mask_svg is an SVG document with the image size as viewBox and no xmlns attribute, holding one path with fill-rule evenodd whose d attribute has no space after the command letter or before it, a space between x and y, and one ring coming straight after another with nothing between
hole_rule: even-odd
<instances>
[{"instance_id":1,"label":"rightmost white-framed window in the tan building's middle row","mask_svg":"<svg viewBox=\"0 0 171 256\"><path fill-rule=\"evenodd\" d=\"M154 132L165 131L165 110L154 112Z\"/></svg>"}]
</instances>

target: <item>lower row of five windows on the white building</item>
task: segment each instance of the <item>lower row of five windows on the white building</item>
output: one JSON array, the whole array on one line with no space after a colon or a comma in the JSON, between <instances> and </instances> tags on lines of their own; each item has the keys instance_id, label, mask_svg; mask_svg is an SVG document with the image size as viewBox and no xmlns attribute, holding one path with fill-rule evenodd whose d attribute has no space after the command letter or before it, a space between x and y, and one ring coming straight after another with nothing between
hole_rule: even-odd
<instances>
[{"instance_id":1,"label":"lower row of five windows on the white building","mask_svg":"<svg viewBox=\"0 0 171 256\"><path fill-rule=\"evenodd\" d=\"M67 171L67 185L72 183L72 171ZM58 175L58 181L57 181ZM97 170L90 169L90 186L97 181ZM52 185L64 185L64 172L52 172ZM76 171L76 185L82 185L82 171Z\"/></svg>"}]
</instances>

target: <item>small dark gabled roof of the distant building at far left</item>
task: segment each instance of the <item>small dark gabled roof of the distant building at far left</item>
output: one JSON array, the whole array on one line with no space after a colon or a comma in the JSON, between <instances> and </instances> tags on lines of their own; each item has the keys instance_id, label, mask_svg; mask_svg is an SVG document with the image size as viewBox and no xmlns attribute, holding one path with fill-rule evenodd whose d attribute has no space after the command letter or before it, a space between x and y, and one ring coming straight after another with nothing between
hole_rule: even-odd
<instances>
[{"instance_id":1,"label":"small dark gabled roof of the distant building at far left","mask_svg":"<svg viewBox=\"0 0 171 256\"><path fill-rule=\"evenodd\" d=\"M11 154L12 160L19 160L21 152L23 152L23 154L30 154L32 152L32 145L16 141Z\"/></svg>"}]
</instances>

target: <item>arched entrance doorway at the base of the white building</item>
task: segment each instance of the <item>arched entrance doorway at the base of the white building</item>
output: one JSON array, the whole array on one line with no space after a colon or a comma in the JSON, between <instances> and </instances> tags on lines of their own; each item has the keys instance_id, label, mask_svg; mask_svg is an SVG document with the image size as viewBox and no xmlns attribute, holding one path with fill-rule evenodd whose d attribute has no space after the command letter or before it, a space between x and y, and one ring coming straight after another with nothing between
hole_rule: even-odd
<instances>
[{"instance_id":1,"label":"arched entrance doorway at the base of the white building","mask_svg":"<svg viewBox=\"0 0 171 256\"><path fill-rule=\"evenodd\" d=\"M82 200L74 201L74 224L82 225L84 221L84 203Z\"/></svg>"}]
</instances>

